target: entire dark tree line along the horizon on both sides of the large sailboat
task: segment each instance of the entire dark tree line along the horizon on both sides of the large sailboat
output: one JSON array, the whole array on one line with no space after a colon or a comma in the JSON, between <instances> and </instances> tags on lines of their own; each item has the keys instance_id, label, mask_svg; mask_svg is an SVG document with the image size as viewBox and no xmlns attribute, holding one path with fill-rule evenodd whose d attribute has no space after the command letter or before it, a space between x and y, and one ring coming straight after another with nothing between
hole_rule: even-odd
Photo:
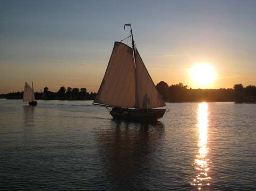
<instances>
[{"instance_id":1,"label":"entire dark tree line along the horizon on both sides of the large sailboat","mask_svg":"<svg viewBox=\"0 0 256 191\"><path fill-rule=\"evenodd\" d=\"M233 88L227 89L192 89L182 83L169 86L165 81L160 81L156 87L166 102L256 102L256 86L253 85L243 87L242 84L235 84ZM93 100L95 97L96 93L88 93L86 88L64 86L58 92L51 92L45 87L44 92L35 93L36 99ZM23 92L1 94L0 98L22 99Z\"/></svg>"}]
</instances>

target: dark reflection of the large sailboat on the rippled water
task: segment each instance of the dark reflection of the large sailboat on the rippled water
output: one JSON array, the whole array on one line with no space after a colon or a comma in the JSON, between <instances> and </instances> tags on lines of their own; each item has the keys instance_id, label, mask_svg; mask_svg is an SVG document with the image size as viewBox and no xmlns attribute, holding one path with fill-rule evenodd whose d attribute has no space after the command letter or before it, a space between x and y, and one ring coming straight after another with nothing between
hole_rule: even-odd
<instances>
[{"instance_id":1,"label":"dark reflection of the large sailboat on the rippled water","mask_svg":"<svg viewBox=\"0 0 256 191\"><path fill-rule=\"evenodd\" d=\"M112 120L99 131L97 150L112 190L147 190L145 177L155 167L165 128L160 122L138 124Z\"/></svg>"}]
</instances>

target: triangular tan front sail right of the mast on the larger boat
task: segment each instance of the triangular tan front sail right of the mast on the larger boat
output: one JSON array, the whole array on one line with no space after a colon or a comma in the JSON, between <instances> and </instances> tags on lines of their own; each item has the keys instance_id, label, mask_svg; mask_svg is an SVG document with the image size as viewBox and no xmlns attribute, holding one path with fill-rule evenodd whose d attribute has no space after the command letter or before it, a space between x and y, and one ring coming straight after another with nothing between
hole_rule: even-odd
<instances>
[{"instance_id":1,"label":"triangular tan front sail right of the mast on the larger boat","mask_svg":"<svg viewBox=\"0 0 256 191\"><path fill-rule=\"evenodd\" d=\"M156 108L165 106L165 102L153 83L138 50L136 62L136 108Z\"/></svg>"}]
</instances>

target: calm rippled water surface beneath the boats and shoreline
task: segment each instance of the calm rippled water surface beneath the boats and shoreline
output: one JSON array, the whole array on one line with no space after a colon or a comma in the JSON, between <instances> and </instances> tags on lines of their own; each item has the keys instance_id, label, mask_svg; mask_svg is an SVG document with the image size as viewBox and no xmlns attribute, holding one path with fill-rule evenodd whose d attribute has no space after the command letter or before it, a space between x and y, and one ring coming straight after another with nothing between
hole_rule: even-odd
<instances>
[{"instance_id":1,"label":"calm rippled water surface beneath the boats and shoreline","mask_svg":"<svg viewBox=\"0 0 256 191\"><path fill-rule=\"evenodd\" d=\"M38 102L0 99L0 190L256 190L255 104L167 104L141 124Z\"/></svg>"}]
</instances>

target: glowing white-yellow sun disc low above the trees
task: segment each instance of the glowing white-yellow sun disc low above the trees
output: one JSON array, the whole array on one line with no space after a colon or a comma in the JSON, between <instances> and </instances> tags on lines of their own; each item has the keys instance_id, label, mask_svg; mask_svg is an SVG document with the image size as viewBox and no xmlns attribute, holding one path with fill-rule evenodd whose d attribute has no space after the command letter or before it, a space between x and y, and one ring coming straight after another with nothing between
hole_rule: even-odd
<instances>
[{"instance_id":1,"label":"glowing white-yellow sun disc low above the trees","mask_svg":"<svg viewBox=\"0 0 256 191\"><path fill-rule=\"evenodd\" d=\"M215 79L215 69L210 63L198 63L190 69L190 75L194 86L206 88Z\"/></svg>"}]
</instances>

